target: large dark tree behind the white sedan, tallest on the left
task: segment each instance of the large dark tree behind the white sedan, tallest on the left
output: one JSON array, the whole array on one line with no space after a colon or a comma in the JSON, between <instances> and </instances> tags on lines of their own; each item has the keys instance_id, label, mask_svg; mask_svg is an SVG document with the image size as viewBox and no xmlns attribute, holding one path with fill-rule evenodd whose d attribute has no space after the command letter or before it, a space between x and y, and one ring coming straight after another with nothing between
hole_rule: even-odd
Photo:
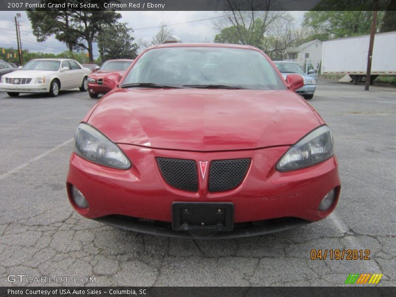
<instances>
[{"instance_id":1,"label":"large dark tree behind the white sedan, tallest on the left","mask_svg":"<svg viewBox=\"0 0 396 297\"><path fill-rule=\"evenodd\" d=\"M103 6L106 0L99 0L96 3ZM40 0L40 3L63 3L62 0ZM70 0L77 4L89 4L90 0ZM78 5L80 7L80 5ZM69 50L86 49L89 53L90 61L93 61L93 43L101 33L102 28L114 25L121 14L112 10L76 10L60 11L57 8L43 11L40 9L27 12L32 23L33 34L37 41L43 42L50 35L55 34L55 38L67 44Z\"/></svg>"}]
</instances>

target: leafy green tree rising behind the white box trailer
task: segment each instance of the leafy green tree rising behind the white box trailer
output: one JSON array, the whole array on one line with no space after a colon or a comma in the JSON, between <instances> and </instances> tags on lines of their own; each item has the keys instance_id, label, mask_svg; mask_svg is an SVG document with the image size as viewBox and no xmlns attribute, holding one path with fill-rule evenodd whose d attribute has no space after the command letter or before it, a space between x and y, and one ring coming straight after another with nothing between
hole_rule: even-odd
<instances>
[{"instance_id":1,"label":"leafy green tree rising behind the white box trailer","mask_svg":"<svg viewBox=\"0 0 396 297\"><path fill-rule=\"evenodd\" d=\"M378 12L377 25L381 23L383 12ZM324 39L341 38L370 33L373 12L352 11L308 11L302 25L312 29L314 34Z\"/></svg>"}]
</instances>

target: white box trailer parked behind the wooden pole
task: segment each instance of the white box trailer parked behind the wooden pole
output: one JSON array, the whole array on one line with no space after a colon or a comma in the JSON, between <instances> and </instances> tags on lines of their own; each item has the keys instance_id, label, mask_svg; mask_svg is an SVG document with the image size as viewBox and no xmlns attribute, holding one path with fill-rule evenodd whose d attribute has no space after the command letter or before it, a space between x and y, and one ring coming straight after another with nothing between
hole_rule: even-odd
<instances>
[{"instance_id":1,"label":"white box trailer parked behind the wooden pole","mask_svg":"<svg viewBox=\"0 0 396 297\"><path fill-rule=\"evenodd\" d=\"M366 76L370 35L324 41L322 74L349 75L355 83ZM371 61L371 82L378 75L396 75L396 31L377 33Z\"/></svg>"}]
</instances>

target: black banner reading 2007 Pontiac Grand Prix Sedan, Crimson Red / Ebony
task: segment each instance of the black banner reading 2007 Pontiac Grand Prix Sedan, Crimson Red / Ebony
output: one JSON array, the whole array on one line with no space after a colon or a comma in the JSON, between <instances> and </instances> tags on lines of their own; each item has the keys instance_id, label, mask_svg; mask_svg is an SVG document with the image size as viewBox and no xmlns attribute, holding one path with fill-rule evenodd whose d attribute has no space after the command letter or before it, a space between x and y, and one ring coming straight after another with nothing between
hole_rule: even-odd
<instances>
[{"instance_id":1,"label":"black banner reading 2007 Pontiac Grand Prix Sedan, Crimson Red / Ebony","mask_svg":"<svg viewBox=\"0 0 396 297\"><path fill-rule=\"evenodd\" d=\"M396 10L392 0L1 0L0 10Z\"/></svg>"}]
</instances>

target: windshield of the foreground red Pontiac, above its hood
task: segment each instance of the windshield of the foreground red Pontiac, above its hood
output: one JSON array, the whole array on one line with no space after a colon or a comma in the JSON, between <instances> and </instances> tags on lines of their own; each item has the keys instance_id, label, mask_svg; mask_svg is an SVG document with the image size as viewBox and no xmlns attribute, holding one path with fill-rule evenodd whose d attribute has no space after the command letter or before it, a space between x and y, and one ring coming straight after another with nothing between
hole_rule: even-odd
<instances>
[{"instance_id":1,"label":"windshield of the foreground red Pontiac, above its hood","mask_svg":"<svg viewBox=\"0 0 396 297\"><path fill-rule=\"evenodd\" d=\"M136 62L122 87L148 83L186 88L286 89L260 52L222 47L150 49Z\"/></svg>"}]
</instances>

